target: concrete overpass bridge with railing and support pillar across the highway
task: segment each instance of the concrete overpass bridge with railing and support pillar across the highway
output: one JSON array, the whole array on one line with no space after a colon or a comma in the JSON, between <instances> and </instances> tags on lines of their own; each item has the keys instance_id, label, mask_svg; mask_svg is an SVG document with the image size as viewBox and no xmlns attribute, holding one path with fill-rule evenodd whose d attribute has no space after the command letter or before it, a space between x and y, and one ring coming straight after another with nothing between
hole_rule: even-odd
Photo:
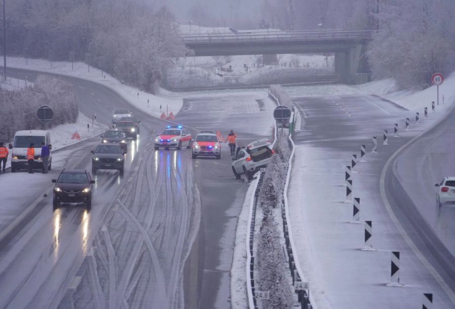
<instances>
[{"instance_id":1,"label":"concrete overpass bridge with railing and support pillar across the highway","mask_svg":"<svg viewBox=\"0 0 455 309\"><path fill-rule=\"evenodd\" d=\"M375 31L274 31L184 34L195 56L335 53L335 74L354 83L363 47Z\"/></svg>"}]
</instances>

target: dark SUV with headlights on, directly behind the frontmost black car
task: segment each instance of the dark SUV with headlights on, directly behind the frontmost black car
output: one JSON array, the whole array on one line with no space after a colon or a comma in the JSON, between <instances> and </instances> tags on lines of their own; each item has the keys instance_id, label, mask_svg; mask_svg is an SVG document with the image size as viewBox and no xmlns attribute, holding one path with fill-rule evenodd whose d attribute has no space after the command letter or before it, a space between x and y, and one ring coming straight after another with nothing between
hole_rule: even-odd
<instances>
[{"instance_id":1,"label":"dark SUV with headlights on, directly behind the frontmost black car","mask_svg":"<svg viewBox=\"0 0 455 309\"><path fill-rule=\"evenodd\" d=\"M92 173L97 170L118 170L123 175L125 160L119 144L100 144L96 150L90 151L92 157Z\"/></svg>"}]
</instances>

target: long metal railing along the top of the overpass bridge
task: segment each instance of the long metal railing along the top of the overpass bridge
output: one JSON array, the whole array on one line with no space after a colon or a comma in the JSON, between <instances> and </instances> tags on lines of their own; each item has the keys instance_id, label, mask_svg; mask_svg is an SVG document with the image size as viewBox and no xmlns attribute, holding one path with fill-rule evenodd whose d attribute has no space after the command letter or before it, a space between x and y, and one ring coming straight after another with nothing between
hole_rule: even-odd
<instances>
[{"instance_id":1,"label":"long metal railing along the top of the overpass bridge","mask_svg":"<svg viewBox=\"0 0 455 309\"><path fill-rule=\"evenodd\" d=\"M183 34L181 38L186 44L248 42L248 41L305 41L328 39L370 39L377 31L288 31L288 32L259 32L259 33L204 33Z\"/></svg>"}]
</instances>

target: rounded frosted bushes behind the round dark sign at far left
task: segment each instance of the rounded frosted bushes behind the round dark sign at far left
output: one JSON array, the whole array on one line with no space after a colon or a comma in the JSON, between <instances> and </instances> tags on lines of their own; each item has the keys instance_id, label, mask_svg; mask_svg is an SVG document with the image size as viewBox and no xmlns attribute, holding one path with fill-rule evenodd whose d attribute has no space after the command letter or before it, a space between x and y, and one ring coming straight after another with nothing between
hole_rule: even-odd
<instances>
[{"instance_id":1,"label":"rounded frosted bushes behind the round dark sign at far left","mask_svg":"<svg viewBox=\"0 0 455 309\"><path fill-rule=\"evenodd\" d=\"M43 128L36 117L41 105L54 110L49 126L74 123L79 113L72 85L48 75L38 76L34 86L22 90L0 89L0 141L12 140L18 130Z\"/></svg>"}]
</instances>

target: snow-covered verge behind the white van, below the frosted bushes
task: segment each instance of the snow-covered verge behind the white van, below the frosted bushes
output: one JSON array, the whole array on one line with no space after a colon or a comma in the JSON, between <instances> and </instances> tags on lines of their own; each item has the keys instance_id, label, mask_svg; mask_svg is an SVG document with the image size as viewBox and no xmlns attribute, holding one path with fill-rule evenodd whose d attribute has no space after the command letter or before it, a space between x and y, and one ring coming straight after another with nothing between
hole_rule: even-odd
<instances>
[{"instance_id":1,"label":"snow-covered verge behind the white van, below the frosted bushes","mask_svg":"<svg viewBox=\"0 0 455 309\"><path fill-rule=\"evenodd\" d=\"M87 124L90 125L89 129L87 129ZM49 131L51 134L52 150L55 151L65 146L79 142L77 139L71 139L75 132L79 133L80 140L82 141L102 134L107 130L109 130L109 127L107 125L99 123L97 121L94 122L94 126L92 127L92 119L79 112L75 123L61 124L52 127L47 131ZM10 155L7 162L7 168L11 166L12 151L11 149L9 151Z\"/></svg>"}]
</instances>

